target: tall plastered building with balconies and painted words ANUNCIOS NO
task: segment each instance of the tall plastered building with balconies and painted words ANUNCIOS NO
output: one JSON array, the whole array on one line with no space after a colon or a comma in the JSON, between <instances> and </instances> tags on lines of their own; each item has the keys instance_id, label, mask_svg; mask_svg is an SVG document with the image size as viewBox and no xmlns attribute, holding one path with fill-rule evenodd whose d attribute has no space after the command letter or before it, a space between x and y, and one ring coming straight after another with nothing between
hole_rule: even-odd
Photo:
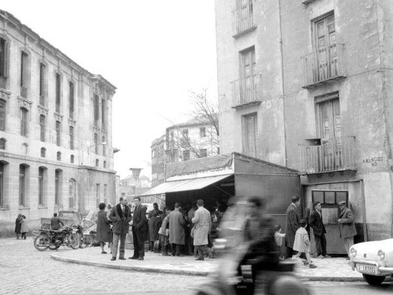
<instances>
[{"instance_id":1,"label":"tall plastered building with balconies and painted words ANUNCIOS NO","mask_svg":"<svg viewBox=\"0 0 393 295\"><path fill-rule=\"evenodd\" d=\"M356 239L393 236L392 21L391 0L216 0L221 152L297 169L332 235L348 200Z\"/></svg>"}]
</instances>

